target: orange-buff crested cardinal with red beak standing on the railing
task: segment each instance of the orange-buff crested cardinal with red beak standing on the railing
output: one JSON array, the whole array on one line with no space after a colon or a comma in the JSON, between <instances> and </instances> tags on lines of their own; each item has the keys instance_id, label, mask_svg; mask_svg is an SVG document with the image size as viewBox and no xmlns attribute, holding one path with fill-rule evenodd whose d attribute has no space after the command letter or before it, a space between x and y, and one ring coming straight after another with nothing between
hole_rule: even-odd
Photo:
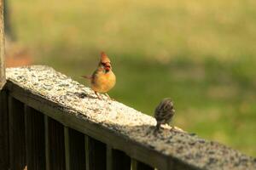
<instances>
[{"instance_id":1,"label":"orange-buff crested cardinal with red beak standing on the railing","mask_svg":"<svg viewBox=\"0 0 256 170\"><path fill-rule=\"evenodd\" d=\"M104 93L108 96L107 92L114 87L116 82L108 55L104 52L101 55L101 61L96 71L90 77L82 76L90 80L91 89L95 92L98 99L100 99L98 93ZM110 99L109 96L108 99Z\"/></svg>"}]
</instances>

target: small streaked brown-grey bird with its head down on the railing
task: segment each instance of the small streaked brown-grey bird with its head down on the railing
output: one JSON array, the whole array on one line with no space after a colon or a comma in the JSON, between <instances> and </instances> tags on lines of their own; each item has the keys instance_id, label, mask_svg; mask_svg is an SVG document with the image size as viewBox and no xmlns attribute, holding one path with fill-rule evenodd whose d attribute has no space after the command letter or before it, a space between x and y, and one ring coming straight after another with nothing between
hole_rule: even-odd
<instances>
[{"instance_id":1,"label":"small streaked brown-grey bird with its head down on the railing","mask_svg":"<svg viewBox=\"0 0 256 170\"><path fill-rule=\"evenodd\" d=\"M159 130L161 124L171 122L174 113L175 110L173 108L172 99L163 99L154 110L154 118L157 122L155 130Z\"/></svg>"}]
</instances>

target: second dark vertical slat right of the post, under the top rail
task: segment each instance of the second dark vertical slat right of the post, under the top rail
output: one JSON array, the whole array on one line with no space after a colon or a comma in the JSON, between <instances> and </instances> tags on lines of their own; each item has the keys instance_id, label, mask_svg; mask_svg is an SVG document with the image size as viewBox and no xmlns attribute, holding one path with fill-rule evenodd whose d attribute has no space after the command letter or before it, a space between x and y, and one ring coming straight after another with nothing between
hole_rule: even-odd
<instances>
[{"instance_id":1,"label":"second dark vertical slat right of the post, under the top rail","mask_svg":"<svg viewBox=\"0 0 256 170\"><path fill-rule=\"evenodd\" d=\"M27 170L44 170L44 115L25 105L25 127Z\"/></svg>"}]
</instances>

